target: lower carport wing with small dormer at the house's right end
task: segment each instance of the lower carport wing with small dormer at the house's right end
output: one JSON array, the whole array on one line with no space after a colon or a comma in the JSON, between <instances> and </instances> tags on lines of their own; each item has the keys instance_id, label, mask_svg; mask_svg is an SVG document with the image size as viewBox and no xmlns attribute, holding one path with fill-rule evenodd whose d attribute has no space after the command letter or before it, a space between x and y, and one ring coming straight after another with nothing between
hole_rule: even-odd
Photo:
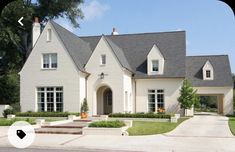
<instances>
[{"instance_id":1,"label":"lower carport wing with small dormer at the house's right end","mask_svg":"<svg viewBox=\"0 0 235 152\"><path fill-rule=\"evenodd\" d=\"M233 80L227 55L186 57L186 78L199 96L217 97L219 114L233 114Z\"/></svg>"}]
</instances>

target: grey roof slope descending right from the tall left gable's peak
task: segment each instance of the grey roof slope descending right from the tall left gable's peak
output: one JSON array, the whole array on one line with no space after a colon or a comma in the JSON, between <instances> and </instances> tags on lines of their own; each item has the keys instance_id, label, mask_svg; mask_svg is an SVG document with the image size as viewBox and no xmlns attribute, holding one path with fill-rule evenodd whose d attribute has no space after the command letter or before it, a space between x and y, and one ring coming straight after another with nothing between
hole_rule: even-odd
<instances>
[{"instance_id":1,"label":"grey roof slope descending right from the tall left gable's peak","mask_svg":"<svg viewBox=\"0 0 235 152\"><path fill-rule=\"evenodd\" d=\"M78 36L66 30L54 21L49 22L54 27L78 69L85 72L84 66L92 53L89 43L83 41Z\"/></svg>"}]
</instances>

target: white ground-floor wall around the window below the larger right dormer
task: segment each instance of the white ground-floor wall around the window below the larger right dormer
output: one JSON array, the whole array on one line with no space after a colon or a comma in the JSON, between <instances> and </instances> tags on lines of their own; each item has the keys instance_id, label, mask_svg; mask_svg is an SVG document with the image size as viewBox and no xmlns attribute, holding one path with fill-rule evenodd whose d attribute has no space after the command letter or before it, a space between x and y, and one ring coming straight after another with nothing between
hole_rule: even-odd
<instances>
[{"instance_id":1,"label":"white ground-floor wall around the window below the larger right dormer","mask_svg":"<svg viewBox=\"0 0 235 152\"><path fill-rule=\"evenodd\" d=\"M137 79L136 80L136 112L148 112L148 90L163 89L165 110L176 113L179 110L180 89L183 79Z\"/></svg>"}]
</instances>

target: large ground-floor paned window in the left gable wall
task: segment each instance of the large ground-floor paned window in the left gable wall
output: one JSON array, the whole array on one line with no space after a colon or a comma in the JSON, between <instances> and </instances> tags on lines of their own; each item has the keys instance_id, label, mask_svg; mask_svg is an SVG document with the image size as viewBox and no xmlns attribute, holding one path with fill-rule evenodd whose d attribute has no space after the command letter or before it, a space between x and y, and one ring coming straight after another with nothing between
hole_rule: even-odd
<instances>
[{"instance_id":1,"label":"large ground-floor paned window in the left gable wall","mask_svg":"<svg viewBox=\"0 0 235 152\"><path fill-rule=\"evenodd\" d=\"M63 111L62 87L37 88L38 111Z\"/></svg>"}]
</instances>

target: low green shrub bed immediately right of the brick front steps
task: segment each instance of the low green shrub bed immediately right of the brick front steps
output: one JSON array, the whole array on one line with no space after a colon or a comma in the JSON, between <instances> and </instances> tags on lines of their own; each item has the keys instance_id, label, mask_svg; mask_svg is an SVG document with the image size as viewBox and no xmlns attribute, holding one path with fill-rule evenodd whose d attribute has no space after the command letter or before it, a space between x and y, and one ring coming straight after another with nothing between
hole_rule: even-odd
<instances>
[{"instance_id":1,"label":"low green shrub bed immediately right of the brick front steps","mask_svg":"<svg viewBox=\"0 0 235 152\"><path fill-rule=\"evenodd\" d=\"M98 121L89 124L89 127L100 127L100 128L121 128L125 126L123 121Z\"/></svg>"}]
</instances>

